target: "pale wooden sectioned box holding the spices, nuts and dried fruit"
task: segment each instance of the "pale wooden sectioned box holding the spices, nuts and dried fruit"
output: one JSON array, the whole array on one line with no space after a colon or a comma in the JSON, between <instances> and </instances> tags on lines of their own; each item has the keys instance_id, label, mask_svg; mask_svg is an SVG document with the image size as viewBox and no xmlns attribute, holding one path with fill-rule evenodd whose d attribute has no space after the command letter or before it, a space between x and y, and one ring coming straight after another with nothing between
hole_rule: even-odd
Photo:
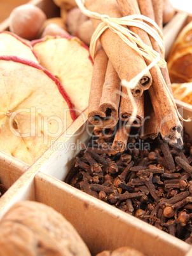
<instances>
[{"instance_id":1,"label":"pale wooden sectioned box holding the spices, nuts and dried fruit","mask_svg":"<svg viewBox=\"0 0 192 256\"><path fill-rule=\"evenodd\" d=\"M51 0L32 3L40 6L48 17L58 11ZM4 29L8 29L8 20L0 25L0 30ZM184 117L192 116L191 106L179 101L177 106ZM184 127L192 137L191 124ZM0 218L18 201L38 201L62 213L92 255L120 246L131 246L149 256L192 255L191 246L184 241L63 182L79 153L79 142L87 143L92 129L85 111L31 167L0 152L0 179L9 188L0 199Z\"/></svg>"}]
</instances>

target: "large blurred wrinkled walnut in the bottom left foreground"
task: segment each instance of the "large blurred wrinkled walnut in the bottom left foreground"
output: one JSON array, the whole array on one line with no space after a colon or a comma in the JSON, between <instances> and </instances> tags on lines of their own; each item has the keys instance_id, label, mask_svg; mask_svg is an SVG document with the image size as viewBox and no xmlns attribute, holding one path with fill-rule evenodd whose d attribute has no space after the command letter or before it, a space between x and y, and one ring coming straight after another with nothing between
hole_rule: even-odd
<instances>
[{"instance_id":1,"label":"large blurred wrinkled walnut in the bottom left foreground","mask_svg":"<svg viewBox=\"0 0 192 256\"><path fill-rule=\"evenodd\" d=\"M72 225L50 206L16 203L0 222L1 256L90 256Z\"/></svg>"}]
</instances>

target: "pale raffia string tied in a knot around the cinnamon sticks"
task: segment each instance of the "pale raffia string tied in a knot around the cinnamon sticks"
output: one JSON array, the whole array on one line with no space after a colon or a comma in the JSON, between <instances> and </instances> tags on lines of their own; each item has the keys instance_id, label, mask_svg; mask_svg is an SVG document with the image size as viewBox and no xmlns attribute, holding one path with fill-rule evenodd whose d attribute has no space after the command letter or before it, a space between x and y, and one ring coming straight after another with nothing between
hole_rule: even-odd
<instances>
[{"instance_id":1,"label":"pale raffia string tied in a knot around the cinnamon sticks","mask_svg":"<svg viewBox=\"0 0 192 256\"><path fill-rule=\"evenodd\" d=\"M134 32L130 31L130 29L128 29L129 26L135 26L146 31L147 34L149 34L154 38L154 40L156 40L156 42L160 46L161 54L164 57L165 46L163 41L163 34L161 32L160 27L158 27L158 25L156 24L156 22L154 22L154 20L151 20L151 18L148 18L144 15L129 15L121 18L112 18L112 17L109 17L108 15L100 15L97 12L87 10L85 8L85 0L76 0L76 4L78 4L80 10L86 16L90 18L96 18L96 19L102 20L102 22L97 26L97 28L93 32L92 39L90 42L90 55L93 60L95 57L97 40L100 38L101 34L104 31L106 31L106 29L111 29L111 31L118 34L118 36L120 36L120 38L125 43L127 43L127 45L132 47L136 52L140 53L143 57L145 57L151 62L149 66L147 66L141 73L135 76L135 78L133 78L130 82L127 82L125 80L121 81L122 86L127 87L127 90L134 89L137 83L139 82L139 80L142 78L142 76L147 71L149 71L149 69L153 68L155 65L158 66L158 73L161 75L160 68L165 68L167 65L167 62L165 62L165 59L162 59L160 56L160 53L156 52L155 50L153 50L153 48L143 43L143 41L141 40L141 38L139 38L137 34L135 34ZM146 24L144 21L153 25L155 29L153 29L153 27L151 27L150 25ZM127 27L124 27L123 25L124 26L126 25ZM181 117L179 111L177 110L174 97L170 93L162 75L161 75L161 78L163 80L163 84L165 88L167 89L168 95L170 96L170 100L174 104L174 108L177 111L177 115L179 119L186 122L191 121L191 119L185 120L184 118Z\"/></svg>"}]
</instances>

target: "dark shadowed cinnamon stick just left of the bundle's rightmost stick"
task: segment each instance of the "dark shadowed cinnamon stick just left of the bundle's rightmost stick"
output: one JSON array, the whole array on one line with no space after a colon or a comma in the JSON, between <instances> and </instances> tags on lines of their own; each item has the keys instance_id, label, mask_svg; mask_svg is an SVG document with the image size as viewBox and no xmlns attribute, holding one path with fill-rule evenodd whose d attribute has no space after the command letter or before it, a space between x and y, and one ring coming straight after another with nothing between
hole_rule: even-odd
<instances>
[{"instance_id":1,"label":"dark shadowed cinnamon stick just left of the bundle's rightmost stick","mask_svg":"<svg viewBox=\"0 0 192 256\"><path fill-rule=\"evenodd\" d=\"M156 121L156 117L153 110L153 105L151 104L151 99L149 93L144 92L144 125L141 127L140 138L141 139L155 139L160 133L160 128Z\"/></svg>"}]
</instances>

